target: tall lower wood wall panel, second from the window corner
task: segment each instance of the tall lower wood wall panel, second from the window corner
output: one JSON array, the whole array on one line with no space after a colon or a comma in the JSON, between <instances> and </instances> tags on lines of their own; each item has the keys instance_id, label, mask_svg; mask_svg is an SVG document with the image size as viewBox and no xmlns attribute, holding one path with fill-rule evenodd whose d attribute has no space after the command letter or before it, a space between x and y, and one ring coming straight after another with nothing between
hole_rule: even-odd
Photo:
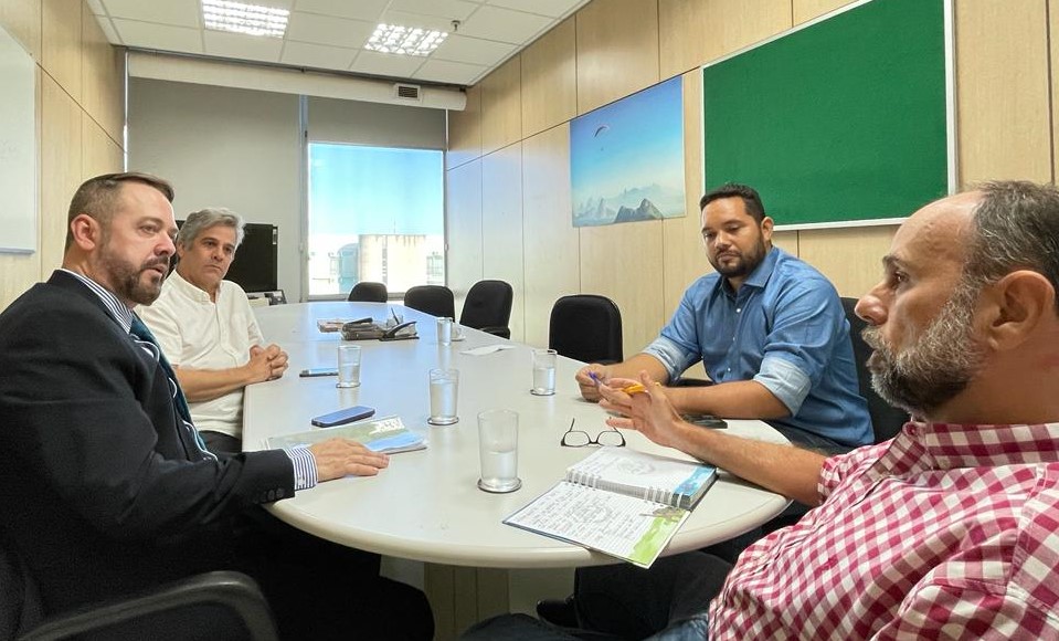
<instances>
[{"instance_id":1,"label":"tall lower wood wall panel, second from the window corner","mask_svg":"<svg viewBox=\"0 0 1059 641\"><path fill-rule=\"evenodd\" d=\"M481 277L507 281L515 290L511 339L525 334L522 272L522 144L481 159Z\"/></svg>"}]
</instances>

